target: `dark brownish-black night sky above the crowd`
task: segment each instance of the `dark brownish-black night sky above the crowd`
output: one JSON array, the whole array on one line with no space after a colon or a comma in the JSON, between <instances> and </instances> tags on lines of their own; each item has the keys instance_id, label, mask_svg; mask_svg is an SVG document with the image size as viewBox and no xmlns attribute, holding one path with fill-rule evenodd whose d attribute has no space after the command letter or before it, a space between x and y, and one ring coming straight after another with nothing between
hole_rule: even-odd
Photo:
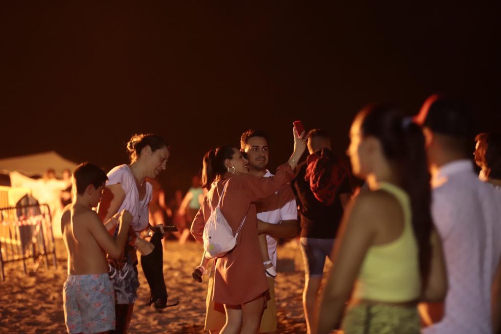
<instances>
[{"instance_id":1,"label":"dark brownish-black night sky above the crowd","mask_svg":"<svg viewBox=\"0 0 501 334\"><path fill-rule=\"evenodd\" d=\"M410 114L442 92L468 101L480 130L499 124L497 10L339 3L3 2L0 158L56 150L111 168L131 134L153 132L172 147L170 192L249 127L270 134L273 169L296 119L343 152L373 101Z\"/></svg>"}]
</instances>

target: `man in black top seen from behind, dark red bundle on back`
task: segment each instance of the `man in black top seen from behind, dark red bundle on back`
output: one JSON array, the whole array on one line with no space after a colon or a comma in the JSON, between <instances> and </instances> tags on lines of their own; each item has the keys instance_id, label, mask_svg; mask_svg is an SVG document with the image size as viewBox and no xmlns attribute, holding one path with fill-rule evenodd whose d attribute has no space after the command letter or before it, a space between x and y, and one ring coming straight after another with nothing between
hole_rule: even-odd
<instances>
[{"instance_id":1,"label":"man in black top seen from behind, dark red bundle on back","mask_svg":"<svg viewBox=\"0 0 501 334\"><path fill-rule=\"evenodd\" d=\"M306 162L298 165L291 182L301 212L301 252L305 263L303 309L311 333L318 305L324 265L331 257L334 238L351 196L350 171L332 152L328 132L308 133Z\"/></svg>"}]
</instances>

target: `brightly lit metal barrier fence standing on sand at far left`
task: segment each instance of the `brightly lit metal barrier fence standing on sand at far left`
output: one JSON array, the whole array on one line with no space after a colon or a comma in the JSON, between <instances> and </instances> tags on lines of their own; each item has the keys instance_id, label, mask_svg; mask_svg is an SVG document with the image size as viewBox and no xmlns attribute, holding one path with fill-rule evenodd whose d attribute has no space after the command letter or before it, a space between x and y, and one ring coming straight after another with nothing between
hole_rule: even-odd
<instances>
[{"instance_id":1,"label":"brightly lit metal barrier fence standing on sand at far left","mask_svg":"<svg viewBox=\"0 0 501 334\"><path fill-rule=\"evenodd\" d=\"M52 233L52 219L47 204L18 205L0 208L0 271L5 280L4 265L22 261L27 273L26 260L32 258L37 263L41 257L49 267L52 254L54 267L57 266L56 246Z\"/></svg>"}]
</instances>

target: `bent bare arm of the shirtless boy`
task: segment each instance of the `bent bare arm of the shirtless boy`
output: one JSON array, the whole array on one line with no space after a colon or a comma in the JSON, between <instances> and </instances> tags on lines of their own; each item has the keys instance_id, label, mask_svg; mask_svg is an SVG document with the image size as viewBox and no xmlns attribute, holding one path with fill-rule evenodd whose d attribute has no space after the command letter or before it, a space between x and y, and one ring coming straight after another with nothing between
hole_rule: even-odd
<instances>
[{"instance_id":1,"label":"bent bare arm of the shirtless boy","mask_svg":"<svg viewBox=\"0 0 501 334\"><path fill-rule=\"evenodd\" d=\"M108 233L104 227L101 219L95 212L87 213L89 221L89 230L94 236L99 246L104 249L104 251L110 254L113 258L119 258L125 247L125 242L127 241L127 233L129 231L129 225L132 221L132 215L129 211L123 210L118 218L119 220L119 230L116 240Z\"/></svg>"}]
</instances>

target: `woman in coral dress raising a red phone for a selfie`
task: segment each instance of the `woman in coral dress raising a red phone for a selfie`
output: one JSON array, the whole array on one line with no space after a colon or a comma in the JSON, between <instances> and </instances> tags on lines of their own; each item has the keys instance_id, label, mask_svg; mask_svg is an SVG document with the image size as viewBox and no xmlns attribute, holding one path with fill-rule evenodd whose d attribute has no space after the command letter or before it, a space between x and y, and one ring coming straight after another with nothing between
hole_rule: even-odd
<instances>
[{"instance_id":1,"label":"woman in coral dress raising a red phone for a selfie","mask_svg":"<svg viewBox=\"0 0 501 334\"><path fill-rule=\"evenodd\" d=\"M304 133L298 136L294 132L294 143L294 153L288 163L277 169L274 177L247 174L247 160L231 146L210 150L203 158L202 182L210 190L191 226L195 239L203 241L205 222L221 196L220 209L233 234L245 217L235 248L215 263L212 299L224 304L226 312L226 323L220 333L257 333L259 330L269 285L258 241L255 202L272 195L294 177L293 171L306 148Z\"/></svg>"}]
</instances>

